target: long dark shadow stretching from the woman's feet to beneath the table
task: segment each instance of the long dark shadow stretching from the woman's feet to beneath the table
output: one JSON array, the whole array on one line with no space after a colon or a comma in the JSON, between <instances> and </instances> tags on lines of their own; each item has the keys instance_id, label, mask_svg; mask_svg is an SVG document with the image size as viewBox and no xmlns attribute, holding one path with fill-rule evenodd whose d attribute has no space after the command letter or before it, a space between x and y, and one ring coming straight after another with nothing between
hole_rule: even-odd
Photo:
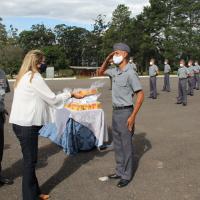
<instances>
[{"instance_id":1,"label":"long dark shadow stretching from the woman's feet to beneath the table","mask_svg":"<svg viewBox=\"0 0 200 200\"><path fill-rule=\"evenodd\" d=\"M94 157L103 157L108 152L109 150L100 152L95 149L90 152L80 152L75 156L68 156L64 160L62 167L41 186L41 190L47 194L50 193L58 184L75 173L82 165L93 160Z\"/></svg>"}]
</instances>

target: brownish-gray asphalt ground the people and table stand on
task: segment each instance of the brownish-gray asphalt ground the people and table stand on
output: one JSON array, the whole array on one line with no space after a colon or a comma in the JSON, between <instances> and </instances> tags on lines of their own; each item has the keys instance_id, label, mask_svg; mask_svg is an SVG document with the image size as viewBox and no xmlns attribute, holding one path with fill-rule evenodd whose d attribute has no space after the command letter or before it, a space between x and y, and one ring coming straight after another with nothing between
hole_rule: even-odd
<instances>
[{"instance_id":1,"label":"brownish-gray asphalt ground the people and table stand on","mask_svg":"<svg viewBox=\"0 0 200 200\"><path fill-rule=\"evenodd\" d=\"M57 92L65 87L89 87L94 81L52 80L48 84ZM102 81L101 101L110 127L110 82ZM135 176L126 188L117 188L115 181L98 180L114 171L112 148L68 157L48 139L39 138L37 176L42 191L50 193L52 200L199 200L200 91L188 97L188 106L176 105L177 81L172 78L172 91L165 93L161 91L163 78L158 78L159 96L152 100L148 98L149 80L141 78L145 101L136 120ZM8 110L12 97L13 92L6 97ZM3 174L15 183L0 188L0 199L21 200L21 150L11 125L7 123L5 129Z\"/></svg>"}]
</instances>

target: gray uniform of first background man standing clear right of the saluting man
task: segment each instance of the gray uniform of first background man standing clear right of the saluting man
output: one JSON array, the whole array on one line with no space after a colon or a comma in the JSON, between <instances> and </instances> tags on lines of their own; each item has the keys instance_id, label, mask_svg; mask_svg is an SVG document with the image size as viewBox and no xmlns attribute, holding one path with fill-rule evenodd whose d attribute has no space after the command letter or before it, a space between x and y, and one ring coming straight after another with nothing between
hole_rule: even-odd
<instances>
[{"instance_id":1,"label":"gray uniform of first background man standing clear right of the saluting man","mask_svg":"<svg viewBox=\"0 0 200 200\"><path fill-rule=\"evenodd\" d=\"M156 85L156 76L158 72L158 67L152 65L149 67L149 76L150 76L150 98L157 98L157 85Z\"/></svg>"}]
</instances>

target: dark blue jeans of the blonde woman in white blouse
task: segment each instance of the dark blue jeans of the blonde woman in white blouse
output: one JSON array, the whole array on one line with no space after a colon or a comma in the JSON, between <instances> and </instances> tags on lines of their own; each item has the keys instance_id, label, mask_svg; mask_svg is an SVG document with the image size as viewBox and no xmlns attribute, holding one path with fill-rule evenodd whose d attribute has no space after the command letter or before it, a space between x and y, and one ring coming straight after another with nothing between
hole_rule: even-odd
<instances>
[{"instance_id":1,"label":"dark blue jeans of the blonde woman in white blouse","mask_svg":"<svg viewBox=\"0 0 200 200\"><path fill-rule=\"evenodd\" d=\"M40 126L18 126L13 124L13 130L17 136L23 154L23 200L38 200L41 194L38 180L35 174L38 154L38 132Z\"/></svg>"}]
</instances>

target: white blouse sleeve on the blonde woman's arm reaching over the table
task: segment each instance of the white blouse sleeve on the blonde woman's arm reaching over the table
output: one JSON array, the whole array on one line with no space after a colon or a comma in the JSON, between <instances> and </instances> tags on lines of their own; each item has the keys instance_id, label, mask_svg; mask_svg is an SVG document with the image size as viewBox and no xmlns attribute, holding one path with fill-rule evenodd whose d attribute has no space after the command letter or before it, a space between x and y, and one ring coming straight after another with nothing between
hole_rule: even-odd
<instances>
[{"instance_id":1,"label":"white blouse sleeve on the blonde woman's arm reaching over the table","mask_svg":"<svg viewBox=\"0 0 200 200\"><path fill-rule=\"evenodd\" d=\"M55 95L55 93L53 93L47 86L41 75L35 74L31 85L36 94L52 107L63 108L64 101L71 98L71 94L68 92Z\"/></svg>"}]
</instances>

